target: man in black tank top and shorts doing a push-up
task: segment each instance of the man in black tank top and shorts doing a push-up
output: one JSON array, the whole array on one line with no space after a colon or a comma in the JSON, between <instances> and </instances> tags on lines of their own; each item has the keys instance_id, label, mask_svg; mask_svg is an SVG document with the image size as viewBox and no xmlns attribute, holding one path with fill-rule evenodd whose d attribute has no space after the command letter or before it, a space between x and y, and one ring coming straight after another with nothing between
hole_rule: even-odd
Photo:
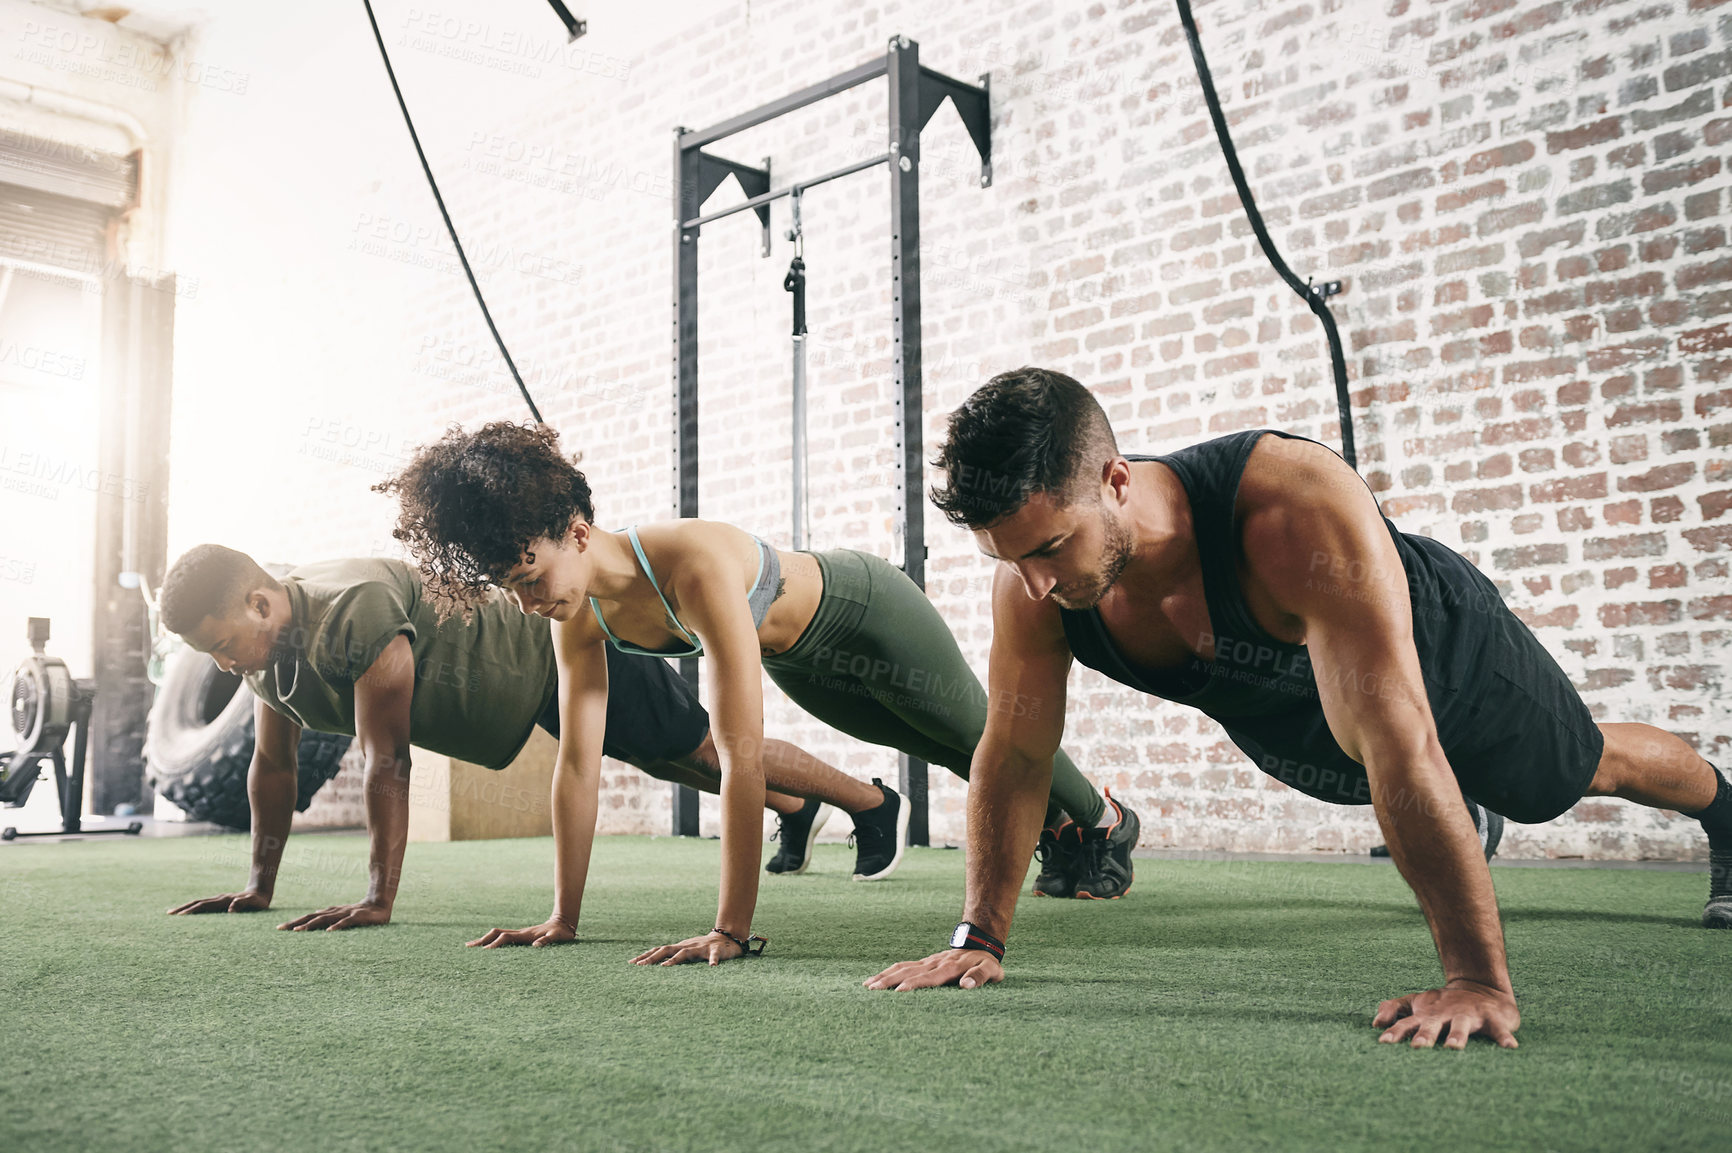
<instances>
[{"instance_id":1,"label":"man in black tank top and shorts doing a push-up","mask_svg":"<svg viewBox=\"0 0 1732 1153\"><path fill-rule=\"evenodd\" d=\"M1086 388L1020 369L951 415L937 464L934 502L1001 561L989 696L1043 701L994 710L975 753L958 944L999 945L1010 928L1072 660L1205 712L1302 793L1375 807L1446 978L1384 1001L1382 1040L1516 1046L1464 795L1524 822L1581 796L1692 814L1711 860L1703 924L1732 928L1732 779L1670 732L1593 724L1496 587L1398 531L1323 445L1256 429L1124 457ZM1001 954L951 949L868 985L972 989L1003 978Z\"/></svg>"}]
</instances>

